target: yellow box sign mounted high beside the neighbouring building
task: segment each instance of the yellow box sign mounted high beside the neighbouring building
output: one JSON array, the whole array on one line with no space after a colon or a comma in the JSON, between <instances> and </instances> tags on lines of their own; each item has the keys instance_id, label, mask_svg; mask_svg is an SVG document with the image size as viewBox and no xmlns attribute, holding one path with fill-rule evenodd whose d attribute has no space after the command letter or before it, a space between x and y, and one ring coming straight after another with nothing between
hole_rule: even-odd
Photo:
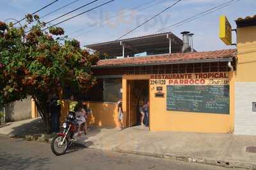
<instances>
[{"instance_id":1,"label":"yellow box sign mounted high beside the neighbouring building","mask_svg":"<svg viewBox=\"0 0 256 170\"><path fill-rule=\"evenodd\" d=\"M220 39L226 45L232 45L232 27L225 15L220 16Z\"/></svg>"}]
</instances>

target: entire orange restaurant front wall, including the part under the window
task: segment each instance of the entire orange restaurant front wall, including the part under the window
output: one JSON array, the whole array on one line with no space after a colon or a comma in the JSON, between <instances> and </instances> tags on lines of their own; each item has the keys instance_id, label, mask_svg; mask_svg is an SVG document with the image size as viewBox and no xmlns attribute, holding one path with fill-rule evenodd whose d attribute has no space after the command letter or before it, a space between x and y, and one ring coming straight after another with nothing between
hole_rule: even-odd
<instances>
[{"instance_id":1,"label":"entire orange restaurant front wall, including the part under the window","mask_svg":"<svg viewBox=\"0 0 256 170\"><path fill-rule=\"evenodd\" d=\"M209 114L199 112L177 112L166 110L166 85L163 86L164 98L154 97L155 85L148 85L150 102L150 130L228 133L234 131L234 81L235 73L229 72L230 114ZM127 127L127 81L149 80L150 75L124 75L122 79L124 125ZM118 127L117 104L103 102L85 102L92 114L88 115L88 125L100 127ZM68 111L68 102L63 101L61 121Z\"/></svg>"}]
</instances>

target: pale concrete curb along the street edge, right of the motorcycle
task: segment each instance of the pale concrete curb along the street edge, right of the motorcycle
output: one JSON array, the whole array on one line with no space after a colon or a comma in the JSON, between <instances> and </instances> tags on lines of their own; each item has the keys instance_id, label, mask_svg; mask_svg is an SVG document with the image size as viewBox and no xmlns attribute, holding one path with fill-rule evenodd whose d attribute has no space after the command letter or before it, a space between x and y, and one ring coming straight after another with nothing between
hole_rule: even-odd
<instances>
[{"instance_id":1,"label":"pale concrete curb along the street edge, right of the motorcycle","mask_svg":"<svg viewBox=\"0 0 256 170\"><path fill-rule=\"evenodd\" d=\"M198 157L189 157L186 155L177 155L177 154L162 154L162 153L148 153L144 151L130 151L130 150L122 150L118 147L113 148L112 151L116 151L119 153L129 153L134 155L142 155L148 157L157 157L157 158L169 158L172 160L181 160L184 162L195 162L200 164L209 164L213 166L221 166L228 168L245 168L245 169L256 169L256 164L252 163L243 163L243 162L232 162L225 160L214 160L210 158L198 158Z\"/></svg>"}]
</instances>

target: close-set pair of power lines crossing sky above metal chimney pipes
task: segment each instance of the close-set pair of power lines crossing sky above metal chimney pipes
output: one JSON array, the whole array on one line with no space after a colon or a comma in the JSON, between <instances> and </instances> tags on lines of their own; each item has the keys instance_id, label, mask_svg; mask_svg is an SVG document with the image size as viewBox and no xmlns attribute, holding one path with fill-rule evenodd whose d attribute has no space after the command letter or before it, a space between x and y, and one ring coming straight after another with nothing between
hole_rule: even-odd
<instances>
[{"instance_id":1,"label":"close-set pair of power lines crossing sky above metal chimney pipes","mask_svg":"<svg viewBox=\"0 0 256 170\"><path fill-rule=\"evenodd\" d=\"M180 26L180 25L185 24L187 22L191 22L192 20L195 20L195 19L198 19L200 17L203 17L203 16L205 16L205 15L211 13L211 12L214 12L216 10L220 10L221 8L224 8L225 6L228 6L228 5L232 4L232 3L236 3L237 1L240 1L240 0L231 0L231 1L228 1L226 3L220 4L218 6L214 6L214 7L210 8L209 10L205 10L204 12L201 12L201 13L198 13L196 15L193 15L192 17L189 17L188 19L184 19L184 20L182 20L180 22L172 24L171 26L164 27L163 29L160 29L160 30L156 31L156 33L159 33L161 31L169 29L170 27Z\"/></svg>"}]
</instances>

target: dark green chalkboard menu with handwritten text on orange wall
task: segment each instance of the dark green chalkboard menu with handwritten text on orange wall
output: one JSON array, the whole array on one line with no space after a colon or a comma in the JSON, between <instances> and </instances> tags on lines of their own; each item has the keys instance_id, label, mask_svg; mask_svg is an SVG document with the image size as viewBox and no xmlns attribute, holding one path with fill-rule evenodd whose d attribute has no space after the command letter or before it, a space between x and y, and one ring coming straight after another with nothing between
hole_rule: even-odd
<instances>
[{"instance_id":1,"label":"dark green chalkboard menu with handwritten text on orange wall","mask_svg":"<svg viewBox=\"0 0 256 170\"><path fill-rule=\"evenodd\" d=\"M167 86L166 109L229 114L229 85Z\"/></svg>"}]
</instances>

